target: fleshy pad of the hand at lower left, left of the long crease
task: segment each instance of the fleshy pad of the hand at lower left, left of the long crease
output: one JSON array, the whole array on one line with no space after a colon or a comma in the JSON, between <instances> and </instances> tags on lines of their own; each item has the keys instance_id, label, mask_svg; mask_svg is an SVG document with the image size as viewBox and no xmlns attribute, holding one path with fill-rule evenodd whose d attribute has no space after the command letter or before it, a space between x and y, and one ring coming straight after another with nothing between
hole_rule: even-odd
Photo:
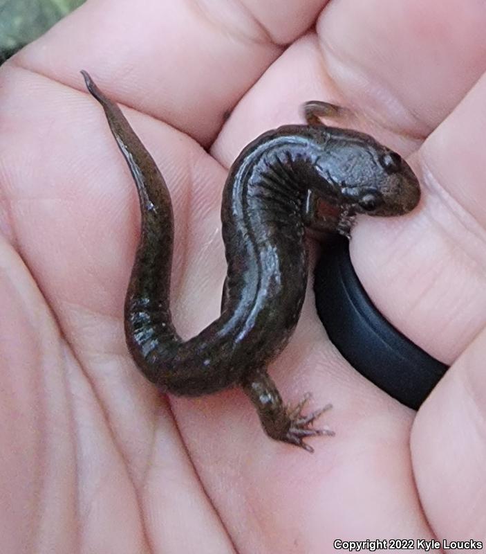
<instances>
[{"instance_id":1,"label":"fleshy pad of the hand at lower left, left of the long crease","mask_svg":"<svg viewBox=\"0 0 486 554\"><path fill-rule=\"evenodd\" d=\"M93 544L111 521L120 544L140 551L142 526L127 517L138 508L133 483L104 415L28 269L3 238L0 313L0 550L27 551L33 541L75 552L80 535ZM122 508L105 509L114 498L124 498ZM94 512L93 499L100 508Z\"/></svg>"}]
</instances>

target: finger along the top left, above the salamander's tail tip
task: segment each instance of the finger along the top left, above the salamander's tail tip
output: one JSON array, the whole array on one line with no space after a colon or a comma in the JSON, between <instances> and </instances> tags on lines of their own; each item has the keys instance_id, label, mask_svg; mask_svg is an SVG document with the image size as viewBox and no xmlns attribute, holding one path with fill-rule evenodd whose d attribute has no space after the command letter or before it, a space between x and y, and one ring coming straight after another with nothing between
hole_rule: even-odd
<instances>
[{"instance_id":1,"label":"finger along the top left, above the salamander's tail tip","mask_svg":"<svg viewBox=\"0 0 486 554\"><path fill-rule=\"evenodd\" d=\"M77 88L86 69L113 100L207 143L324 3L92 0L15 62Z\"/></svg>"}]
</instances>

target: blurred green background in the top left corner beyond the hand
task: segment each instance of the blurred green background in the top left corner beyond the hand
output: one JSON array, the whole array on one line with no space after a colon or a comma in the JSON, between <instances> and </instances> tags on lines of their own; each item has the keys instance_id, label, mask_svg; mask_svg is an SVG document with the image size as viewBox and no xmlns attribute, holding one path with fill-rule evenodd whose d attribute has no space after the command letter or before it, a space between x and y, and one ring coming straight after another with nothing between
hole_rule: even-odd
<instances>
[{"instance_id":1,"label":"blurred green background in the top left corner beyond the hand","mask_svg":"<svg viewBox=\"0 0 486 554\"><path fill-rule=\"evenodd\" d=\"M85 0L0 0L0 64Z\"/></svg>"}]
</instances>

